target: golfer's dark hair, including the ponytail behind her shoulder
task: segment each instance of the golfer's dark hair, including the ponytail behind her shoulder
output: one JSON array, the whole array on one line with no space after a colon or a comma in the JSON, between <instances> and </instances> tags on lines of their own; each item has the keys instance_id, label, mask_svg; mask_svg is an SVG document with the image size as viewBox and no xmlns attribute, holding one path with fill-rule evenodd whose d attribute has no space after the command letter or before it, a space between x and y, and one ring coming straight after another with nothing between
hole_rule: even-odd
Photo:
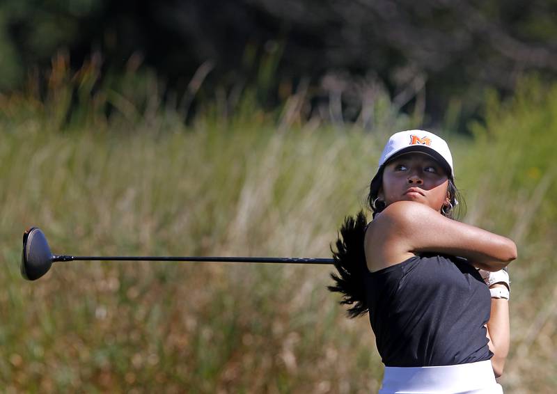
<instances>
[{"instance_id":1,"label":"golfer's dark hair, including the ponytail behind her shoulder","mask_svg":"<svg viewBox=\"0 0 557 394\"><path fill-rule=\"evenodd\" d=\"M377 201L379 189L383 184L383 169L379 172L370 183L370 193L368 195L368 203L375 217L379 212L385 209L386 205L383 201ZM452 178L448 182L448 194L450 203L453 208L457 206L458 210L441 211L444 216L453 219L460 216L460 207L463 205L460 192L455 186ZM375 203L374 203L375 201ZM332 249L334 258L334 266L338 274L331 273L334 285L327 286L331 292L340 292L343 299L340 304L350 305L347 315L350 318L364 315L369 312L368 301L366 297L365 274L368 270L366 263L366 254L363 249L363 239L366 236L367 219L366 214L360 211L356 217L347 216L340 227L336 240L336 251Z\"/></svg>"}]
</instances>

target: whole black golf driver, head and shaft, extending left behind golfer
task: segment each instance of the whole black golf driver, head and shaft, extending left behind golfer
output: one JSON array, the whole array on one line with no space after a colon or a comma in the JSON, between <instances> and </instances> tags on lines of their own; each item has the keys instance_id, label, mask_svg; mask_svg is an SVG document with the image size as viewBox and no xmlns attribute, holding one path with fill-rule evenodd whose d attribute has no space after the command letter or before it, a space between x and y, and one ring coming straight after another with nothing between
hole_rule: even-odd
<instances>
[{"instance_id":1,"label":"whole black golf driver, head and shaft, extending left behind golfer","mask_svg":"<svg viewBox=\"0 0 557 394\"><path fill-rule=\"evenodd\" d=\"M265 262L293 264L333 264L332 258L268 258L268 257L168 257L168 256L72 256L53 255L47 237L40 228L31 227L23 234L22 276L35 281L46 274L53 262L97 261L188 261L188 262Z\"/></svg>"}]
</instances>

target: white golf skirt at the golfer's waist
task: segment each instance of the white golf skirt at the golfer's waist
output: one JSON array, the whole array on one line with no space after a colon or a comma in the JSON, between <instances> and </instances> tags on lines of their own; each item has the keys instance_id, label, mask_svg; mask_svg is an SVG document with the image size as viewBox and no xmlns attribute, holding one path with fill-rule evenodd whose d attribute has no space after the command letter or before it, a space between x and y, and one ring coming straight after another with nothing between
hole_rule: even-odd
<instances>
[{"instance_id":1,"label":"white golf skirt at the golfer's waist","mask_svg":"<svg viewBox=\"0 0 557 394\"><path fill-rule=\"evenodd\" d=\"M490 360L440 367L385 367L379 394L503 394Z\"/></svg>"}]
</instances>

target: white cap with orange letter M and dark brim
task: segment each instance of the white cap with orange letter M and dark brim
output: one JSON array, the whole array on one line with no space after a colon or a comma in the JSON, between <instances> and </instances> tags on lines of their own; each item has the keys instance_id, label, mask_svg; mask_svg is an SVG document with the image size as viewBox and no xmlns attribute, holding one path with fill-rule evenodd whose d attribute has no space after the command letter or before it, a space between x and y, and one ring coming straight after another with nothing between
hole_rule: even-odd
<instances>
[{"instance_id":1,"label":"white cap with orange letter M and dark brim","mask_svg":"<svg viewBox=\"0 0 557 394\"><path fill-rule=\"evenodd\" d=\"M445 168L449 178L455 178L453 156L446 141L432 132L419 129L398 132L389 138L379 159L377 173L391 159L409 152L421 152L433 157Z\"/></svg>"}]
</instances>

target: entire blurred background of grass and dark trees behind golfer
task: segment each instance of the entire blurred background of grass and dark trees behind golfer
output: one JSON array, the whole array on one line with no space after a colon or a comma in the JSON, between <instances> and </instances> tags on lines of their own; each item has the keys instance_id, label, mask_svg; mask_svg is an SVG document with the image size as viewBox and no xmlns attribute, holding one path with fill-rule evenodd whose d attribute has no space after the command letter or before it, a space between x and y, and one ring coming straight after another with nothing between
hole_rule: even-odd
<instances>
[{"instance_id":1,"label":"entire blurred background of grass and dark trees behind golfer","mask_svg":"<svg viewBox=\"0 0 557 394\"><path fill-rule=\"evenodd\" d=\"M329 257L386 138L448 139L460 219L511 237L505 393L557 389L556 1L0 4L0 386L370 393L331 267L54 253ZM370 216L370 215L369 215Z\"/></svg>"}]
</instances>

